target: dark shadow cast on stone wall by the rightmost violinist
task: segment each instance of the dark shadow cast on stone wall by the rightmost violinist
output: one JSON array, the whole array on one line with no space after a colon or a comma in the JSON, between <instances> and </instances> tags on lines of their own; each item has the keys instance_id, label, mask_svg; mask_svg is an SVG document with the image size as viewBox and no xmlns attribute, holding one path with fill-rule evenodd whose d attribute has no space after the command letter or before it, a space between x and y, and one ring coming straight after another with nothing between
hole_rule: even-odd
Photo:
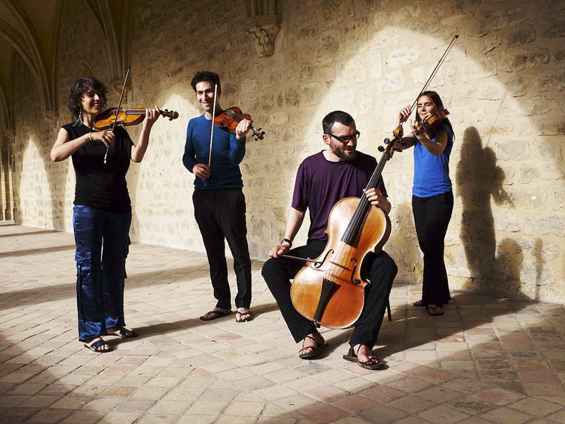
<instances>
[{"instance_id":1,"label":"dark shadow cast on stone wall by the rightmost violinist","mask_svg":"<svg viewBox=\"0 0 565 424\"><path fill-rule=\"evenodd\" d=\"M520 293L521 247L509 238L501 240L496 252L496 235L491 197L494 203L514 208L513 199L504 191L504 171L496 166L496 154L482 147L479 131L465 129L456 171L456 194L460 196L460 237L468 262L469 290Z\"/></svg>"}]
</instances>

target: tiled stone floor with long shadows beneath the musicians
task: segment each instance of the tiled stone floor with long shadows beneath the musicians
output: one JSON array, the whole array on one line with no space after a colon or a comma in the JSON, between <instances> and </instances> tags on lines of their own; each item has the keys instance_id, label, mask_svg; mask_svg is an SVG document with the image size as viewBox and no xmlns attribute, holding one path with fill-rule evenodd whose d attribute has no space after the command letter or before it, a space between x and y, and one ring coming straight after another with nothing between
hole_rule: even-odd
<instances>
[{"instance_id":1,"label":"tiled stone floor with long shadows beneath the musicians","mask_svg":"<svg viewBox=\"0 0 565 424\"><path fill-rule=\"evenodd\" d=\"M73 235L0 225L1 423L565 423L565 309L453 293L444 317L396 284L376 353L297 358L254 264L253 322L198 317L213 305L203 254L131 246L126 322L140 336L77 341Z\"/></svg>"}]
</instances>

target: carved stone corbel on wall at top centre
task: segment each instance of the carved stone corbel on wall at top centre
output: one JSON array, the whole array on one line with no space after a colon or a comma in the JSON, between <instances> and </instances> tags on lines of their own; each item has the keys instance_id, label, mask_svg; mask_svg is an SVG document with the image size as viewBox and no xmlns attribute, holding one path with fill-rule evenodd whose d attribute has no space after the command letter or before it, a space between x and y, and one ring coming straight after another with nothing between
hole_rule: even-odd
<instances>
[{"instance_id":1,"label":"carved stone corbel on wall at top centre","mask_svg":"<svg viewBox=\"0 0 565 424\"><path fill-rule=\"evenodd\" d=\"M275 52L275 38L280 31L278 0L247 0L245 2L247 33L253 37L259 57L270 56Z\"/></svg>"}]
</instances>

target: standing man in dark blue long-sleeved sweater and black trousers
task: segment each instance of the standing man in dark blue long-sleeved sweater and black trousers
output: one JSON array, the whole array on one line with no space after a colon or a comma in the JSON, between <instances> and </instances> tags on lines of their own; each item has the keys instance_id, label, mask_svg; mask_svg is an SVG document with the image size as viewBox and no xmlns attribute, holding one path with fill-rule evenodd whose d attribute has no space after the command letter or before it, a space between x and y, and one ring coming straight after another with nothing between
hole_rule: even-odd
<instances>
[{"instance_id":1,"label":"standing man in dark blue long-sleeved sweater and black trousers","mask_svg":"<svg viewBox=\"0 0 565 424\"><path fill-rule=\"evenodd\" d=\"M214 297L218 300L214 309L200 319L210 321L232 312L225 259L224 240L227 240L234 257L237 280L236 321L246 322L251 319L251 259L247 247L245 197L242 192L243 181L239 163L245 155L245 139L251 122L242 119L235 129L235 134L212 125L214 104L216 115L222 112L222 88L217 73L200 71L192 78L191 86L204 113L189 121L182 163L196 175L192 196L194 217L206 247ZM214 99L215 86L217 94ZM213 144L208 165L211 126Z\"/></svg>"}]
</instances>

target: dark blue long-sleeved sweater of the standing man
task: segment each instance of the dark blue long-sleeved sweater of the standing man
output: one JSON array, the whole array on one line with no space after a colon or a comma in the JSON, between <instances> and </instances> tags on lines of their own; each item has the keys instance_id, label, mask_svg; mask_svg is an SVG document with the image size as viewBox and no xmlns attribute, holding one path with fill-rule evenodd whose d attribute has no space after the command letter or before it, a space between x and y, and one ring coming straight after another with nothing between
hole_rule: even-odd
<instances>
[{"instance_id":1,"label":"dark blue long-sleeved sweater of the standing man","mask_svg":"<svg viewBox=\"0 0 565 424\"><path fill-rule=\"evenodd\" d=\"M197 163L208 164L208 148L210 147L210 120L204 114L193 118L186 127L186 144L182 163L187 170ZM235 134L225 128L214 126L212 141L212 161L208 184L204 180L194 178L194 189L241 189L243 187L242 172L239 163L245 156L245 141L238 140Z\"/></svg>"}]
</instances>

